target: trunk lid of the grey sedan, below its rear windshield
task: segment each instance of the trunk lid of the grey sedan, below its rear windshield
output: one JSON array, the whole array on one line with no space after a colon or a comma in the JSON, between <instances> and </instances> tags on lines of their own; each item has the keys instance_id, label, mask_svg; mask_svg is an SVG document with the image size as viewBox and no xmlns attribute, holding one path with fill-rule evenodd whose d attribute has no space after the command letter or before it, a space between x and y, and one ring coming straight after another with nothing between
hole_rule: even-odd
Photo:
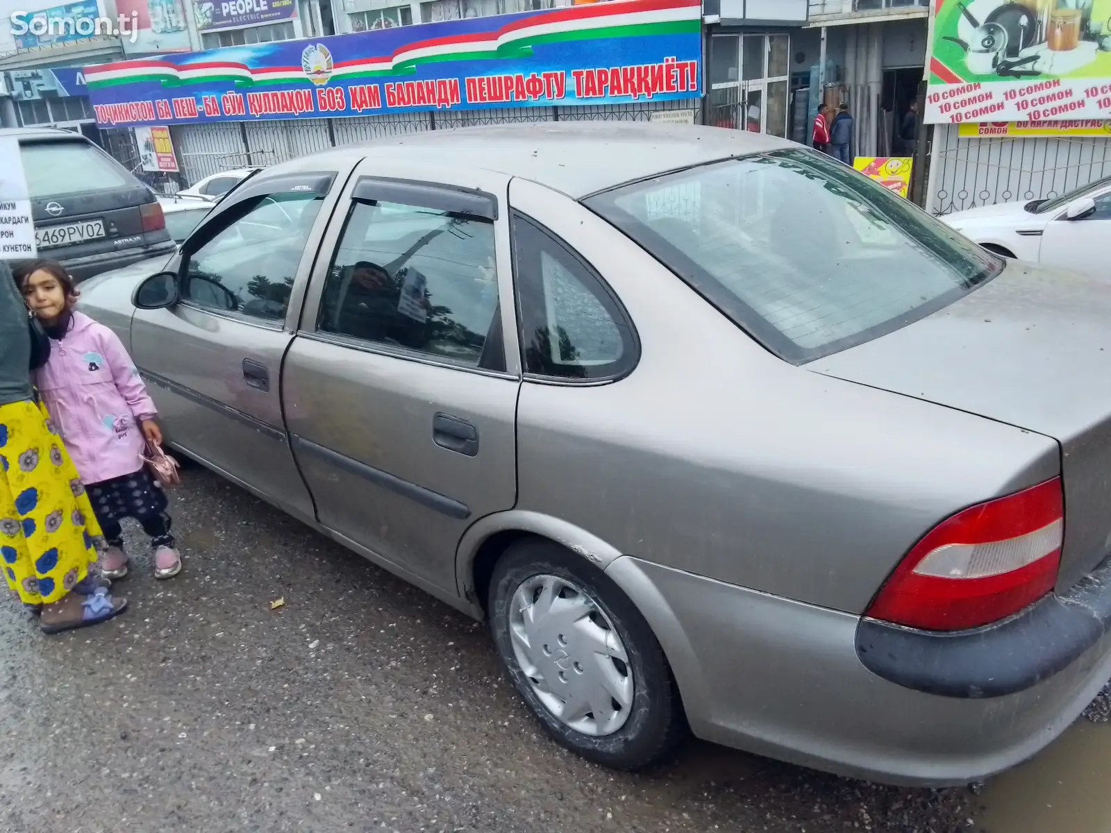
<instances>
[{"instance_id":1,"label":"trunk lid of the grey sedan, below its rear windshield","mask_svg":"<svg viewBox=\"0 0 1111 833\"><path fill-rule=\"evenodd\" d=\"M1010 262L943 310L807 368L1053 438L1058 590L1111 552L1111 285Z\"/></svg>"}]
</instances>

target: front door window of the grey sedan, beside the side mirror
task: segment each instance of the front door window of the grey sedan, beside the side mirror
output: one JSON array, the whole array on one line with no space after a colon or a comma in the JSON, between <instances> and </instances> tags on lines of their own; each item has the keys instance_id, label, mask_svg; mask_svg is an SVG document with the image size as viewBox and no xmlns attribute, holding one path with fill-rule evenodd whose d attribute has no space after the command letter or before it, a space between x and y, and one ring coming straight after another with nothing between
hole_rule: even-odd
<instances>
[{"instance_id":1,"label":"front door window of the grey sedan, beside the side mirror","mask_svg":"<svg viewBox=\"0 0 1111 833\"><path fill-rule=\"evenodd\" d=\"M278 193L230 209L236 219L186 259L182 300L281 321L322 199L316 193Z\"/></svg>"}]
</instances>

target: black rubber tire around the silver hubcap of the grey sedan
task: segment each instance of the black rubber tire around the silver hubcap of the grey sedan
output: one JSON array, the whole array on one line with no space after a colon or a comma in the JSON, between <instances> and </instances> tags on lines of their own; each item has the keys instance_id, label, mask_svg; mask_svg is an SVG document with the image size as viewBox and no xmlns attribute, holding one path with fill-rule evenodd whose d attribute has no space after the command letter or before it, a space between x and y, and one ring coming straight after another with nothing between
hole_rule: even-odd
<instances>
[{"instance_id":1,"label":"black rubber tire around the silver hubcap of the grey sedan","mask_svg":"<svg viewBox=\"0 0 1111 833\"><path fill-rule=\"evenodd\" d=\"M510 636L510 604L526 580L541 574L572 582L601 609L625 646L633 679L632 705L615 732L579 732L543 704L521 670ZM557 743L583 757L618 770L640 770L665 757L688 733L679 690L663 650L640 611L602 571L544 539L512 544L490 579L488 595L494 646L513 688Z\"/></svg>"}]
</instances>

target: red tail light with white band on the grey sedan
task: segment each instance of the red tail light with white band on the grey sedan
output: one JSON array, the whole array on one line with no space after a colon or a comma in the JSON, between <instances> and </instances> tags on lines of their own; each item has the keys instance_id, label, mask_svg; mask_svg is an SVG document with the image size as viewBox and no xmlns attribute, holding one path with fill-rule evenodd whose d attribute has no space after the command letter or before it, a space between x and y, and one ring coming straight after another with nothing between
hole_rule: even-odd
<instances>
[{"instance_id":1,"label":"red tail light with white band on the grey sedan","mask_svg":"<svg viewBox=\"0 0 1111 833\"><path fill-rule=\"evenodd\" d=\"M931 631L998 622L1053 589L1063 540L1060 478L971 506L914 545L864 615Z\"/></svg>"}]
</instances>

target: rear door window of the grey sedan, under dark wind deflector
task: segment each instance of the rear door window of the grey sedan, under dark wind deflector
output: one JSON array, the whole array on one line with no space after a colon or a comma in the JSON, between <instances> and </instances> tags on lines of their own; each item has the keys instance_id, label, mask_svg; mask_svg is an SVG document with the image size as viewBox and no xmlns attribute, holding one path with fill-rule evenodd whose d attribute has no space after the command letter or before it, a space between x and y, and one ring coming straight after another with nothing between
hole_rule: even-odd
<instances>
[{"instance_id":1,"label":"rear door window of the grey sedan, under dark wind deflector","mask_svg":"<svg viewBox=\"0 0 1111 833\"><path fill-rule=\"evenodd\" d=\"M352 203L318 329L504 370L493 223L387 201Z\"/></svg>"}]
</instances>

